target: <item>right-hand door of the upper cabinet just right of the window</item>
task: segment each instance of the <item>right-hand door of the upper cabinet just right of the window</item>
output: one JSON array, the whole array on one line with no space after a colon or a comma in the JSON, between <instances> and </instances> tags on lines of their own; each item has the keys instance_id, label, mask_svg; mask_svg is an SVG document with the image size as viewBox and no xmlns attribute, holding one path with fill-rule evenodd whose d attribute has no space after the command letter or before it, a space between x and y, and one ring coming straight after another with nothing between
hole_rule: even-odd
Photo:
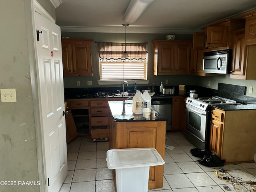
<instances>
[{"instance_id":1,"label":"right-hand door of the upper cabinet just right of the window","mask_svg":"<svg viewBox=\"0 0 256 192\"><path fill-rule=\"evenodd\" d=\"M190 45L176 45L175 56L175 72L188 72L190 62Z\"/></svg>"}]
</instances>

